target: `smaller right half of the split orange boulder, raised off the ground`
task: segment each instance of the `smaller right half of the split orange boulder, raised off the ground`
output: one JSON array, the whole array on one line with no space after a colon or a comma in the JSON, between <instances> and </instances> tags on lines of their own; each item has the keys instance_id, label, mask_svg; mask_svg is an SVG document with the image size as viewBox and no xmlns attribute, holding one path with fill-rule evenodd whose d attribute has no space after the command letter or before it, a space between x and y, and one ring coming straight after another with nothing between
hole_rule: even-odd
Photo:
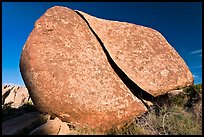
<instances>
[{"instance_id":1,"label":"smaller right half of the split orange boulder, raised off the ground","mask_svg":"<svg viewBox=\"0 0 204 137\"><path fill-rule=\"evenodd\" d=\"M193 84L188 66L158 31L78 12L89 22L118 67L143 90L158 96Z\"/></svg>"}]
</instances>

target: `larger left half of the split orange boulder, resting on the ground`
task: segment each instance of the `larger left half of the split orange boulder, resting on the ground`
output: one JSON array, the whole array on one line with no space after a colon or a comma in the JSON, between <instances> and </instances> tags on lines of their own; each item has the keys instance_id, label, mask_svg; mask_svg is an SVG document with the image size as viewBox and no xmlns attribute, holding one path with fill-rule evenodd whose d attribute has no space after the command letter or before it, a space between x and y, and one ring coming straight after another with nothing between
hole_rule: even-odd
<instances>
[{"instance_id":1,"label":"larger left half of the split orange boulder, resting on the ground","mask_svg":"<svg viewBox=\"0 0 204 137\"><path fill-rule=\"evenodd\" d=\"M85 21L65 7L50 8L35 22L20 70L37 108L75 126L104 132L147 111Z\"/></svg>"}]
</instances>

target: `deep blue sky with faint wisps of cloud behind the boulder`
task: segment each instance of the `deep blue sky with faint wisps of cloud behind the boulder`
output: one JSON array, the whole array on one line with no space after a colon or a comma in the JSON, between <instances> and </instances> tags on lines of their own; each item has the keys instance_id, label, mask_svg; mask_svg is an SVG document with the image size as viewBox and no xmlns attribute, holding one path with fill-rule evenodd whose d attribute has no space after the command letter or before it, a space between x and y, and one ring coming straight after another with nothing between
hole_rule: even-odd
<instances>
[{"instance_id":1,"label":"deep blue sky with faint wisps of cloud behind the boulder","mask_svg":"<svg viewBox=\"0 0 204 137\"><path fill-rule=\"evenodd\" d=\"M158 30L202 83L201 2L2 2L2 83L24 85L19 60L35 21L52 6Z\"/></svg>"}]
</instances>

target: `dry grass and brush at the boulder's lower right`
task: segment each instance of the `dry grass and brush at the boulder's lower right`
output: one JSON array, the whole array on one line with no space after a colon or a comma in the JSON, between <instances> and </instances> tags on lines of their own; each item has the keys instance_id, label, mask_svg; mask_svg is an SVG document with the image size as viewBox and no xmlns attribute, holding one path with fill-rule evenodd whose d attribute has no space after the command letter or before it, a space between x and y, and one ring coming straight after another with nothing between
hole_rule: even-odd
<instances>
[{"instance_id":1,"label":"dry grass and brush at the boulder's lower right","mask_svg":"<svg viewBox=\"0 0 204 137\"><path fill-rule=\"evenodd\" d=\"M112 129L108 134L202 135L201 84L185 88L184 92L166 102L162 106L152 106L143 116L121 129Z\"/></svg>"}]
</instances>

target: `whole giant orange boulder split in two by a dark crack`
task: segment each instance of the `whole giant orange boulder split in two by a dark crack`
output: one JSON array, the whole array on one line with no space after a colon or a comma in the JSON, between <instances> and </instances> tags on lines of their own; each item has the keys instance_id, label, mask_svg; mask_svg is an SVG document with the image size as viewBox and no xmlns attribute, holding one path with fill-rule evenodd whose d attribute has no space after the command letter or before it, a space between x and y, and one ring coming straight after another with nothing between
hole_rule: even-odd
<instances>
[{"instance_id":1,"label":"whole giant orange boulder split in two by a dark crack","mask_svg":"<svg viewBox=\"0 0 204 137\"><path fill-rule=\"evenodd\" d=\"M124 84L125 75L153 96L193 83L185 62L157 31L59 6L35 22L20 70L40 111L100 132L147 111Z\"/></svg>"}]
</instances>

